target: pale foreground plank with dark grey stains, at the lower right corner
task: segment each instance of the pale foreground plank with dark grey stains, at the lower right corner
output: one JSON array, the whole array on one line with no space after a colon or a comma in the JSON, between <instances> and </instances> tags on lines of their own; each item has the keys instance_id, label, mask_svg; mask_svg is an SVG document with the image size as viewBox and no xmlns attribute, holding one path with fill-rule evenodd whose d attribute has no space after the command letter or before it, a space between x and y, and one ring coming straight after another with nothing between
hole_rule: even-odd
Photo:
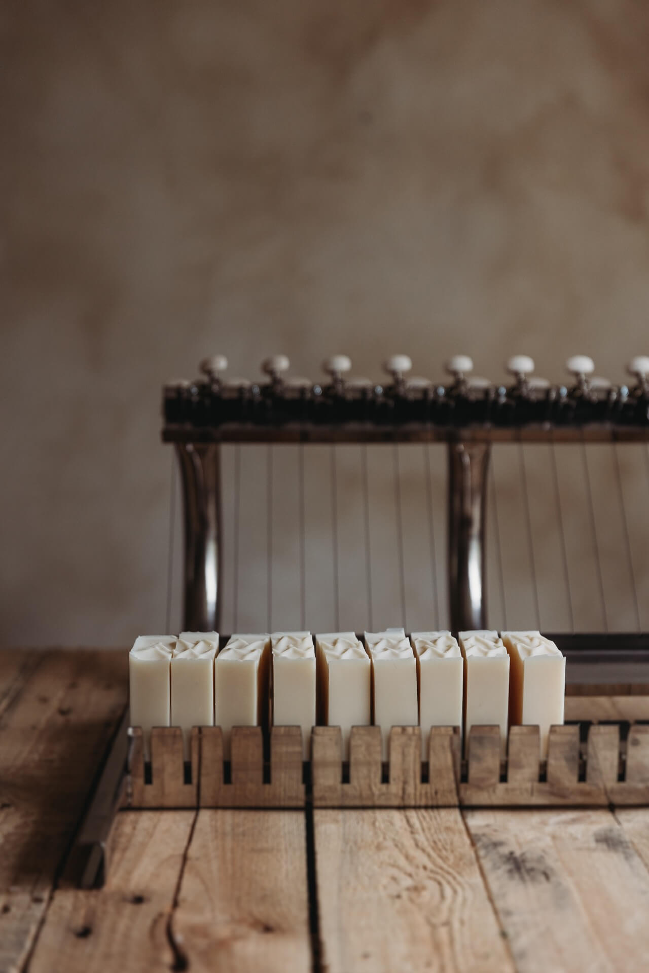
<instances>
[{"instance_id":1,"label":"pale foreground plank with dark grey stains, at the lower right corner","mask_svg":"<svg viewBox=\"0 0 649 973\"><path fill-rule=\"evenodd\" d=\"M464 811L521 973L643 969L649 874L610 811Z\"/></svg>"}]
</instances>

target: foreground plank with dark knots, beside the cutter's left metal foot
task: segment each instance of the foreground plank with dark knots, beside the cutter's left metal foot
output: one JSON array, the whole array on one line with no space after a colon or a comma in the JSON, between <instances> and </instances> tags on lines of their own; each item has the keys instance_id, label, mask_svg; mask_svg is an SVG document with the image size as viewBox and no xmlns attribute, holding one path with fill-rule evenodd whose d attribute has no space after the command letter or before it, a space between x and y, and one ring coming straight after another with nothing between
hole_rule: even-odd
<instances>
[{"instance_id":1,"label":"foreground plank with dark knots, beside the cutter's left metal foot","mask_svg":"<svg viewBox=\"0 0 649 973\"><path fill-rule=\"evenodd\" d=\"M195 811L118 814L108 882L101 892L54 893L30 973L185 968L168 922L194 817Z\"/></svg>"}]
</instances>

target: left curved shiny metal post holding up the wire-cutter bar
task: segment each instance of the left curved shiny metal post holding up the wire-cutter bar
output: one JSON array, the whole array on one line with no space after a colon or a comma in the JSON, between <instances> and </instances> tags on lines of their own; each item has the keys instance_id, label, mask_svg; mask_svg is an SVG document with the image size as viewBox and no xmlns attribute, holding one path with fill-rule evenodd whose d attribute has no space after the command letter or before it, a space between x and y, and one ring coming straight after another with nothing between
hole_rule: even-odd
<instances>
[{"instance_id":1,"label":"left curved shiny metal post holding up the wire-cutter bar","mask_svg":"<svg viewBox=\"0 0 649 973\"><path fill-rule=\"evenodd\" d=\"M221 472L218 443L176 443L183 485L183 627L218 631L221 575Z\"/></svg>"}]
</instances>

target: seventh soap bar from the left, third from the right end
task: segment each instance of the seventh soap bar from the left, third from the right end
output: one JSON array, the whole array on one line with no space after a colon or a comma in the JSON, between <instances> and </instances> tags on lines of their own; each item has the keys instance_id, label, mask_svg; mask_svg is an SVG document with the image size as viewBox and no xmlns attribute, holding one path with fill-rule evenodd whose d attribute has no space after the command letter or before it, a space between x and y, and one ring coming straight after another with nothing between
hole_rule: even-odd
<instances>
[{"instance_id":1,"label":"seventh soap bar from the left, third from the right end","mask_svg":"<svg viewBox=\"0 0 649 973\"><path fill-rule=\"evenodd\" d=\"M421 759L428 760L431 727L462 727L464 660L450 631L414 631L419 684Z\"/></svg>"}]
</instances>

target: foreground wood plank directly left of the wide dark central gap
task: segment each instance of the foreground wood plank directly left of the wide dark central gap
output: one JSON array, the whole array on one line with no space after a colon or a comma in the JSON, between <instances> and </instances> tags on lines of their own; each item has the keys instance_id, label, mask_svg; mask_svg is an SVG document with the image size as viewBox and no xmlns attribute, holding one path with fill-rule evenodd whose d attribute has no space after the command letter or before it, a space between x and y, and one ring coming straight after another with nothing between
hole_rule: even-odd
<instances>
[{"instance_id":1,"label":"foreground wood plank directly left of the wide dark central gap","mask_svg":"<svg viewBox=\"0 0 649 973\"><path fill-rule=\"evenodd\" d=\"M200 811L172 929L191 970L309 973L304 812Z\"/></svg>"}]
</instances>

